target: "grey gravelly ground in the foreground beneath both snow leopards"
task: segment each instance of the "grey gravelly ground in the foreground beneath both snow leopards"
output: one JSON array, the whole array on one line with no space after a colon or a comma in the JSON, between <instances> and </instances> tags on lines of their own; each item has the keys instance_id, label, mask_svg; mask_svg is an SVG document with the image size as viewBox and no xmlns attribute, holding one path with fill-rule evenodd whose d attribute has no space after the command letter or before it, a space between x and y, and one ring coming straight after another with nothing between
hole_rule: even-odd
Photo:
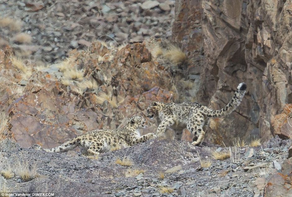
<instances>
[{"instance_id":1,"label":"grey gravelly ground in the foreground beneath both snow leopards","mask_svg":"<svg viewBox=\"0 0 292 197\"><path fill-rule=\"evenodd\" d=\"M214 151L227 148L207 143L194 147L185 141L151 140L102 153L96 159L78 151L46 153L21 148L4 140L2 166L7 169L9 163L13 176L0 180L8 191L47 191L57 196L254 196L263 192L265 182L260 180L281 169L290 144L291 140L276 138L262 146L244 146L233 163L230 158L214 159ZM117 158L128 158L132 165L116 164ZM200 159L210 161L210 166L201 167ZM26 162L38 174L27 182L18 172L19 163L25 168ZM170 194L161 191L167 187L173 189Z\"/></svg>"}]
</instances>

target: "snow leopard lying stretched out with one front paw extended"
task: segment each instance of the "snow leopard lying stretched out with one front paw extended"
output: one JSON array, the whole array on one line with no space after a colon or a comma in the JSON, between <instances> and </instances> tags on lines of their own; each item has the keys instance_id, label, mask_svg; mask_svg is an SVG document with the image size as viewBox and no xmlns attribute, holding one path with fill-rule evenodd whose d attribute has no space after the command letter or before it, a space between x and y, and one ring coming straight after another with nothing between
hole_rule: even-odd
<instances>
[{"instance_id":1,"label":"snow leopard lying stretched out with one front paw extended","mask_svg":"<svg viewBox=\"0 0 292 197\"><path fill-rule=\"evenodd\" d=\"M139 116L130 117L126 125L120 130L93 130L79 135L64 144L44 149L51 153L61 153L79 146L83 153L99 154L107 152L115 147L127 148L134 144L143 143L146 140L156 138L153 133L140 136L138 128L145 128L145 119Z\"/></svg>"}]
</instances>

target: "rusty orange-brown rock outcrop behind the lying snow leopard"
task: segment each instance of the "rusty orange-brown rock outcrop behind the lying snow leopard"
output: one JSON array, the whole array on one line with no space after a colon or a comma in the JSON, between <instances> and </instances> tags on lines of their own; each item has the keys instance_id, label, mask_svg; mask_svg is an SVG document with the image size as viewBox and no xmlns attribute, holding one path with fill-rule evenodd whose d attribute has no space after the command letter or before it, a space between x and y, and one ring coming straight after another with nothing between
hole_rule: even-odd
<instances>
[{"instance_id":1,"label":"rusty orange-brown rock outcrop behind the lying snow leopard","mask_svg":"<svg viewBox=\"0 0 292 197\"><path fill-rule=\"evenodd\" d=\"M173 97L168 91L169 72L152 60L144 44L118 50L95 42L88 50L70 53L69 70L61 72L65 68L53 64L36 71L32 65L28 68L34 74L28 79L17 79L19 71L7 56L0 52L0 64L10 67L1 70L7 89L0 105L9 114L13 139L24 147L52 147L86 131L116 129L130 116L146 117L145 108L153 100L171 102ZM83 76L78 79L64 78L81 70ZM96 87L80 86L90 81ZM12 83L16 87L9 89ZM156 127L156 121L148 122L141 132L153 132Z\"/></svg>"}]
</instances>

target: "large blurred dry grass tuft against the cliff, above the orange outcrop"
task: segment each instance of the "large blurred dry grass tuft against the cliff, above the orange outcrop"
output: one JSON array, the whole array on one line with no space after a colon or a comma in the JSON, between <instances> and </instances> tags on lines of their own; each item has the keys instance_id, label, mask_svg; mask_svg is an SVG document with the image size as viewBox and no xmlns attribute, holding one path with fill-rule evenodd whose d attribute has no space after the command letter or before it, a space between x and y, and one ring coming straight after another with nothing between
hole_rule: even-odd
<instances>
[{"instance_id":1,"label":"large blurred dry grass tuft against the cliff, above the orange outcrop","mask_svg":"<svg viewBox=\"0 0 292 197\"><path fill-rule=\"evenodd\" d=\"M186 61L186 55L175 45L169 45L169 48L164 52L163 57L170 60L175 65L180 65Z\"/></svg>"}]
</instances>

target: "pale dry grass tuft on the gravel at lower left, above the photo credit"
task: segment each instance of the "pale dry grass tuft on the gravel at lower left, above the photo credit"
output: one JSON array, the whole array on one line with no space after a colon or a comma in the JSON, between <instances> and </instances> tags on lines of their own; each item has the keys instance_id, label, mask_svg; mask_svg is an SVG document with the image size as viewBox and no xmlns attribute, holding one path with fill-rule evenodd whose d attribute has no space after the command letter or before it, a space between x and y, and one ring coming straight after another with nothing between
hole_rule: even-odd
<instances>
[{"instance_id":1,"label":"pale dry grass tuft on the gravel at lower left, above the photo credit","mask_svg":"<svg viewBox=\"0 0 292 197\"><path fill-rule=\"evenodd\" d=\"M37 164L29 165L28 161L18 162L15 167L17 176L21 178L22 181L27 182L38 177Z\"/></svg>"}]
</instances>

